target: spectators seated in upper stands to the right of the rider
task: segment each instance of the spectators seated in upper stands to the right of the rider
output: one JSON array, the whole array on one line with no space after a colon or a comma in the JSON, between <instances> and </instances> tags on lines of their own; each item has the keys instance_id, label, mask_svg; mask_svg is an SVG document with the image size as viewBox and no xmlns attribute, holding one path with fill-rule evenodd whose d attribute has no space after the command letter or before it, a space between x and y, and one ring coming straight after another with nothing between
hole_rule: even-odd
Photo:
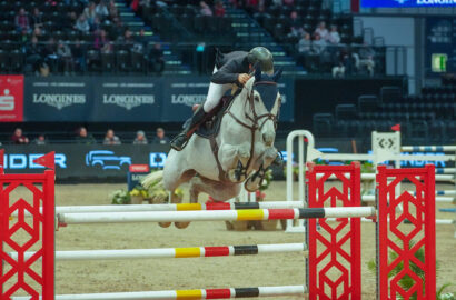
<instances>
[{"instance_id":1,"label":"spectators seated in upper stands to the right of the rider","mask_svg":"<svg viewBox=\"0 0 456 300\"><path fill-rule=\"evenodd\" d=\"M290 46L298 64L309 72L374 76L381 54L354 37L353 20L333 16L321 0L251 0L237 3L274 38ZM377 68L378 69L378 68Z\"/></svg>"}]
</instances>

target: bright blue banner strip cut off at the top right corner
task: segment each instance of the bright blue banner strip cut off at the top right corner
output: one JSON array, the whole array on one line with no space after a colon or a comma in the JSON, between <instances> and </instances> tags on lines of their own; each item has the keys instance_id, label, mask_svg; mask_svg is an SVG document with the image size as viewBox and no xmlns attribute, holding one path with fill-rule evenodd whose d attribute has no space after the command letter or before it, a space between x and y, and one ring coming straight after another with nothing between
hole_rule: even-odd
<instances>
[{"instance_id":1,"label":"bright blue banner strip cut off at the top right corner","mask_svg":"<svg viewBox=\"0 0 456 300\"><path fill-rule=\"evenodd\" d=\"M456 0L361 0L363 8L456 7Z\"/></svg>"}]
</instances>

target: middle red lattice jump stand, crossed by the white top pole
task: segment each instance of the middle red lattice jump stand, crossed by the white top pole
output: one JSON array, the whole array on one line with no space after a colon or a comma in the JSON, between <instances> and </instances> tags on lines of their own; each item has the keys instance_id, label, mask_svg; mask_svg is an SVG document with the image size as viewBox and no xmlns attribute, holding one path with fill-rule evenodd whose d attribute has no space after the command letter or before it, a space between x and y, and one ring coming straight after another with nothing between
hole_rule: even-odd
<instances>
[{"instance_id":1,"label":"middle red lattice jump stand, crossed by the white top pole","mask_svg":"<svg viewBox=\"0 0 456 300\"><path fill-rule=\"evenodd\" d=\"M317 179L317 174L323 177ZM333 187L325 190L325 183L333 174L341 183L341 188ZM351 163L351 166L309 163L306 177L309 208L360 207L359 163ZM361 299L359 218L340 219L336 222L309 219L307 222L309 299ZM317 222L320 230L317 228ZM343 264L341 261L347 262L348 266ZM338 273L339 277L333 280L334 273Z\"/></svg>"}]
</instances>

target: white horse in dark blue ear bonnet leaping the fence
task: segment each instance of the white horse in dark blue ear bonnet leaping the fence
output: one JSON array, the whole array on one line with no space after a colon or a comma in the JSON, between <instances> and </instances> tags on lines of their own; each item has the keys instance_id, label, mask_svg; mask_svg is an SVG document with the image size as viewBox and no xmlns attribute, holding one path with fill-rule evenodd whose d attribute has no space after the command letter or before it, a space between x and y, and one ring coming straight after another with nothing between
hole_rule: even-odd
<instances>
[{"instance_id":1,"label":"white horse in dark blue ear bonnet leaping the fence","mask_svg":"<svg viewBox=\"0 0 456 300\"><path fill-rule=\"evenodd\" d=\"M181 151L171 149L163 171L149 174L143 186L162 178L172 203L179 201L174 191L185 182L190 182L191 203L198 202L200 192L227 201L239 194L242 183L249 191L257 190L278 154L274 141L281 104L277 88L280 74L278 71L269 77L257 69L222 114L217 137L194 134ZM179 222L176 227L188 224Z\"/></svg>"}]
</instances>

